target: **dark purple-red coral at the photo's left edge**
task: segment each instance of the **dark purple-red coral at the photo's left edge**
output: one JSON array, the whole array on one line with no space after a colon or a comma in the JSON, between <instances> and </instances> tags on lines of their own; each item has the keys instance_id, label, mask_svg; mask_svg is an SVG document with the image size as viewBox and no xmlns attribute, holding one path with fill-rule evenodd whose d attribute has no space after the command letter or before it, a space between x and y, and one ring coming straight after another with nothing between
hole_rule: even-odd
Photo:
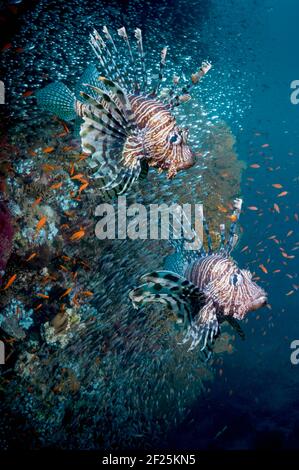
<instances>
[{"instance_id":1,"label":"dark purple-red coral at the photo's left edge","mask_svg":"<svg viewBox=\"0 0 299 470\"><path fill-rule=\"evenodd\" d=\"M10 212L4 202L0 202L0 274L4 271L11 255L14 227Z\"/></svg>"}]
</instances>

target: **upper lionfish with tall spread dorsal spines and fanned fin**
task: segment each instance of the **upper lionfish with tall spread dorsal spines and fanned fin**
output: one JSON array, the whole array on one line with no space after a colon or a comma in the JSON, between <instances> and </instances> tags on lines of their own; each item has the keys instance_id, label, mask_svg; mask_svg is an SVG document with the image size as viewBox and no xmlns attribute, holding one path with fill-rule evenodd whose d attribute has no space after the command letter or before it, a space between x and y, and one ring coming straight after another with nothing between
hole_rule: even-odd
<instances>
[{"instance_id":1,"label":"upper lionfish with tall spread dorsal spines and fanned fin","mask_svg":"<svg viewBox=\"0 0 299 470\"><path fill-rule=\"evenodd\" d=\"M191 88L209 71L211 64L202 62L191 75L190 83L181 89L179 77L174 76L172 87L160 96L167 47L162 49L158 79L151 86L141 30L135 30L137 66L136 52L126 29L118 29L128 49L129 67L120 66L119 51L106 26L103 33L105 40L94 30L90 44L104 76L91 65L75 93L63 83L54 82L39 90L36 97L42 108L61 119L81 118L81 144L83 151L90 154L91 176L99 179L103 190L122 194L138 178L145 178L149 167L167 170L168 178L173 178L178 171L194 165L195 153L188 145L188 128L180 128L171 111L191 98Z\"/></svg>"}]
</instances>

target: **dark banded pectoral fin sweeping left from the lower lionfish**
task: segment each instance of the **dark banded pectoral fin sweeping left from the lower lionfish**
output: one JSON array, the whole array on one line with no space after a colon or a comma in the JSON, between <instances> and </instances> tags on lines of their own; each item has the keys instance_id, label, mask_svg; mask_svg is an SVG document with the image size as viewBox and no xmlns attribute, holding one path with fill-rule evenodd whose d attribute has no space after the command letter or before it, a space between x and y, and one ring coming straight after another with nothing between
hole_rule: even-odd
<instances>
[{"instance_id":1,"label":"dark banded pectoral fin sweeping left from the lower lionfish","mask_svg":"<svg viewBox=\"0 0 299 470\"><path fill-rule=\"evenodd\" d=\"M160 302L177 313L184 325L190 325L195 304L203 301L202 293L194 284L171 271L154 271L144 275L141 281L145 281L144 284L129 293L135 308Z\"/></svg>"}]
</instances>

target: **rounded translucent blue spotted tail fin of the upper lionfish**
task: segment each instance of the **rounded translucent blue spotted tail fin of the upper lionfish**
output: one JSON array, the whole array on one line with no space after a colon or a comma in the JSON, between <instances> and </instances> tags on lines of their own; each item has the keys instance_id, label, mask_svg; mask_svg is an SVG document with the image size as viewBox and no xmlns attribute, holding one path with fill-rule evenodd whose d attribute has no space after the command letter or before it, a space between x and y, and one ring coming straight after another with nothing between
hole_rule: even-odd
<instances>
[{"instance_id":1,"label":"rounded translucent blue spotted tail fin of the upper lionfish","mask_svg":"<svg viewBox=\"0 0 299 470\"><path fill-rule=\"evenodd\" d=\"M76 118L75 94L62 82L54 82L35 94L37 104L45 111L50 111L64 121Z\"/></svg>"}]
</instances>

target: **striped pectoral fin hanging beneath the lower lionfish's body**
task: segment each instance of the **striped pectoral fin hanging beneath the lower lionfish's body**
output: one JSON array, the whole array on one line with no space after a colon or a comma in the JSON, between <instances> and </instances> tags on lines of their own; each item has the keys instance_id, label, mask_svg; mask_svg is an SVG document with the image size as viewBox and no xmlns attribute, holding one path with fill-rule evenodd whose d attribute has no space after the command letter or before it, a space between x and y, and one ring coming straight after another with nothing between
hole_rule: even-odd
<instances>
[{"instance_id":1,"label":"striped pectoral fin hanging beneath the lower lionfish's body","mask_svg":"<svg viewBox=\"0 0 299 470\"><path fill-rule=\"evenodd\" d=\"M219 323L216 311L213 305L208 302L199 311L182 341L182 344L190 342L188 351L192 351L197 346L200 351L204 351L207 347L214 344L219 334Z\"/></svg>"}]
</instances>

